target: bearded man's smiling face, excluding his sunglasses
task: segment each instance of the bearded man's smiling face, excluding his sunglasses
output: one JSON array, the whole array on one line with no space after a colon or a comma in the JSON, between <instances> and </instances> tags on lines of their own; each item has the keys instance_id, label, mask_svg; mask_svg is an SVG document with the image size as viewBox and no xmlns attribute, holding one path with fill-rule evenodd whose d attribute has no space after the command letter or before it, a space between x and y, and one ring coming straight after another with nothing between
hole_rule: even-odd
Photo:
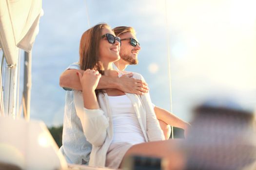
<instances>
[{"instance_id":1,"label":"bearded man's smiling face, excluding his sunglasses","mask_svg":"<svg viewBox=\"0 0 256 170\"><path fill-rule=\"evenodd\" d=\"M127 32L119 35L121 39L134 38L138 42L136 36L133 33ZM122 40L119 55L121 59L126 61L130 65L138 64L138 52L140 46L137 44L135 47L131 45L130 39Z\"/></svg>"}]
</instances>

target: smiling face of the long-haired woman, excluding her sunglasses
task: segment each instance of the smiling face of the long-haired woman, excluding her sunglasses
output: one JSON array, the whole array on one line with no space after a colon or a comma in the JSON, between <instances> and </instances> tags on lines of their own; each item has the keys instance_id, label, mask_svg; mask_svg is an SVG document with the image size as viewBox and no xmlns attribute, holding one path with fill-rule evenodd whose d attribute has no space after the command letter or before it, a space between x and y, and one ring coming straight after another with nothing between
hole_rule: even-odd
<instances>
[{"instance_id":1,"label":"smiling face of the long-haired woman, excluding her sunglasses","mask_svg":"<svg viewBox=\"0 0 256 170\"><path fill-rule=\"evenodd\" d=\"M101 35L114 34L110 28L103 28ZM99 59L101 62L115 62L120 59L119 56L120 43L116 40L114 44L110 44L107 37L101 38L99 43Z\"/></svg>"}]
</instances>

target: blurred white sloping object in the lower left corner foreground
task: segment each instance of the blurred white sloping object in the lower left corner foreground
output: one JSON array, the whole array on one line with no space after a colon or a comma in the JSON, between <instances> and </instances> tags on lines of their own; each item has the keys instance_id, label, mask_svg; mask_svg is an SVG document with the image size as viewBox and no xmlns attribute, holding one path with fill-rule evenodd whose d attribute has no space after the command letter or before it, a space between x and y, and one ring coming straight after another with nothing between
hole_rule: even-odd
<instances>
[{"instance_id":1,"label":"blurred white sloping object in the lower left corner foreground","mask_svg":"<svg viewBox=\"0 0 256 170\"><path fill-rule=\"evenodd\" d=\"M17 166L22 170L65 169L66 161L58 150L43 122L0 117L0 166Z\"/></svg>"}]
</instances>

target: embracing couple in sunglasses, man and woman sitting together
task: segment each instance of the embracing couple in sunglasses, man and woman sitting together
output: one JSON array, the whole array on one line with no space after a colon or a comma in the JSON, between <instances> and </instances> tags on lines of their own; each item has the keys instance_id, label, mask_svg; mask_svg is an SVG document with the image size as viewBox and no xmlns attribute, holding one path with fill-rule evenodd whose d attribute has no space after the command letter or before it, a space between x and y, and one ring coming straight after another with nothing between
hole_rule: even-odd
<instances>
[{"instance_id":1,"label":"embracing couple in sunglasses, man and woman sitting together","mask_svg":"<svg viewBox=\"0 0 256 170\"><path fill-rule=\"evenodd\" d=\"M98 24L82 35L79 63L60 77L62 87L75 89L65 101L60 151L67 162L117 169L131 154L172 151L174 141L164 140L168 124L186 129L187 123L152 104L140 74L123 71L138 63L139 50L131 27Z\"/></svg>"}]
</instances>

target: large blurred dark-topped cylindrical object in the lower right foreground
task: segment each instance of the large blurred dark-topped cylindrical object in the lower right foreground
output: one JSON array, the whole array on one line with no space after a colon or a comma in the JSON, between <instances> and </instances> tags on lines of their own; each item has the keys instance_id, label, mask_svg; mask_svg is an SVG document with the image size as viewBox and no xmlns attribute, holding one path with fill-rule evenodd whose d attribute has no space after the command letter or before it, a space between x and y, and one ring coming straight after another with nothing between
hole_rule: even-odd
<instances>
[{"instance_id":1,"label":"large blurred dark-topped cylindrical object in the lower right foreground","mask_svg":"<svg viewBox=\"0 0 256 170\"><path fill-rule=\"evenodd\" d=\"M186 170L244 170L256 162L254 114L202 105L188 132ZM255 170L255 167L252 169Z\"/></svg>"}]
</instances>

